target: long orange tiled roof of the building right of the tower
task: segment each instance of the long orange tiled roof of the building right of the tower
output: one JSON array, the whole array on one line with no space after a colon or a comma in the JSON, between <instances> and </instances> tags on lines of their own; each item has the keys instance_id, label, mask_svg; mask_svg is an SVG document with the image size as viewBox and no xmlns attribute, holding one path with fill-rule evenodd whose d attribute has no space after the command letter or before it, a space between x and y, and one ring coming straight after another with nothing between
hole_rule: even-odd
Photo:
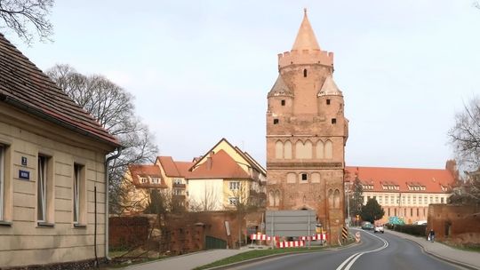
<instances>
[{"instance_id":1,"label":"long orange tiled roof of the building right of the tower","mask_svg":"<svg viewBox=\"0 0 480 270\"><path fill-rule=\"evenodd\" d=\"M445 169L412 169L382 167L346 167L350 181L358 178L364 185L373 185L366 192L418 192L448 193L455 182L452 172ZM398 189L384 189L383 186L397 186ZM425 187L411 190L410 187ZM444 190L448 188L448 190Z\"/></svg>"}]
</instances>

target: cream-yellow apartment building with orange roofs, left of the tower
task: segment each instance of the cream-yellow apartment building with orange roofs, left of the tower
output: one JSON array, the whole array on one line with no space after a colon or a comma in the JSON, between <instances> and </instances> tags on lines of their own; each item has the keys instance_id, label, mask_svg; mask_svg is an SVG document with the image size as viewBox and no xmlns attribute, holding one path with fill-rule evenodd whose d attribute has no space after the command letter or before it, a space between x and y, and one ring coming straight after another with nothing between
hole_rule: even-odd
<instances>
[{"instance_id":1,"label":"cream-yellow apartment building with orange roofs, left of the tower","mask_svg":"<svg viewBox=\"0 0 480 270\"><path fill-rule=\"evenodd\" d=\"M149 203L149 191L171 192L172 207L188 210L226 210L237 202L263 205L266 171L251 155L227 139L192 162L158 156L153 165L134 164L125 174L124 200L128 213L140 212Z\"/></svg>"}]
</instances>

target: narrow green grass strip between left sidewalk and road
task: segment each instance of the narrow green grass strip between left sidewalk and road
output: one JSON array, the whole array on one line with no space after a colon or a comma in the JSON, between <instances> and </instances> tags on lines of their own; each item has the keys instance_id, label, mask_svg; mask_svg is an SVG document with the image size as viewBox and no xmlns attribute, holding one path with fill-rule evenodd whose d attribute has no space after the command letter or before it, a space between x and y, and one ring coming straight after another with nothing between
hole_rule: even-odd
<instances>
[{"instance_id":1,"label":"narrow green grass strip between left sidewalk and road","mask_svg":"<svg viewBox=\"0 0 480 270\"><path fill-rule=\"evenodd\" d=\"M204 265L204 266L199 266L194 268L194 270L201 270L201 269L208 269L211 267L216 267L216 266L226 266L229 264L233 264L236 262L244 261L247 259L252 259L252 258L260 258L260 257L266 257L269 255L275 255L275 254L283 254L283 253L292 253L292 252L311 252L311 251L316 251L316 250L323 250L324 247L311 247L309 250L308 248L286 248L286 249L275 249L275 250L250 250L250 251L245 251L240 254L236 254L234 256L228 257L228 258L222 258L220 260L217 260L215 262L212 262L211 264Z\"/></svg>"}]
</instances>

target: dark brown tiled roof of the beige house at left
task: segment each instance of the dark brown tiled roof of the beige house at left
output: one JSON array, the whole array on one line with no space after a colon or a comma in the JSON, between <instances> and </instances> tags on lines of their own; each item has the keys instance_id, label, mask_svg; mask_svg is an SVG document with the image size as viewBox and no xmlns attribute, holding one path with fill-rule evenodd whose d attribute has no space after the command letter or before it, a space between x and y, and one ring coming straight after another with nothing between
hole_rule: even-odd
<instances>
[{"instance_id":1,"label":"dark brown tiled roof of the beige house at left","mask_svg":"<svg viewBox=\"0 0 480 270\"><path fill-rule=\"evenodd\" d=\"M0 34L0 100L119 147L114 136Z\"/></svg>"}]
</instances>

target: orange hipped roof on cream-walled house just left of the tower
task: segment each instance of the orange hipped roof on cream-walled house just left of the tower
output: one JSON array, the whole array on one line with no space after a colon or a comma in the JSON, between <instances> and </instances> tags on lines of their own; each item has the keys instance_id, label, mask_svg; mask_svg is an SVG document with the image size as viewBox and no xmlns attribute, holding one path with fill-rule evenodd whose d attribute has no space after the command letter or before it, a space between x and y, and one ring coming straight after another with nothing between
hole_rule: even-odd
<instances>
[{"instance_id":1,"label":"orange hipped roof on cream-walled house just left of the tower","mask_svg":"<svg viewBox=\"0 0 480 270\"><path fill-rule=\"evenodd\" d=\"M191 169L188 179L251 179L223 149L207 158L209 160Z\"/></svg>"}]
</instances>

